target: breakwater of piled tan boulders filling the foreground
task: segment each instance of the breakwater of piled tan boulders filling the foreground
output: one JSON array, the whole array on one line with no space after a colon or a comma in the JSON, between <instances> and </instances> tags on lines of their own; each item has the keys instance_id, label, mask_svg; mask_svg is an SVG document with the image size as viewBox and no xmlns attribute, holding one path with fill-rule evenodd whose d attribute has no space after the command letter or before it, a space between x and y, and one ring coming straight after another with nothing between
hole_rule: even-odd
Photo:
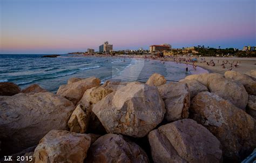
<instances>
[{"instance_id":1,"label":"breakwater of piled tan boulders filling the foreground","mask_svg":"<svg viewBox=\"0 0 256 163\"><path fill-rule=\"evenodd\" d=\"M57 94L31 86L0 96L0 157L239 162L256 147L254 81L227 72L177 83L160 74L146 84L72 78Z\"/></svg>"}]
</instances>

